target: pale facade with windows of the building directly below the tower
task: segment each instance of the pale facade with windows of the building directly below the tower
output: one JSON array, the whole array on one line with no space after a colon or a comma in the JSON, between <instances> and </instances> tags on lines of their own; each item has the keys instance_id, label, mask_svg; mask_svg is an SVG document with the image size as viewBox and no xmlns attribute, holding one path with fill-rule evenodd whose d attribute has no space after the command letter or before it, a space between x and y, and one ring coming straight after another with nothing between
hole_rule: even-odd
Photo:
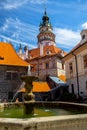
<instances>
[{"instance_id":1,"label":"pale facade with windows of the building directly below the tower","mask_svg":"<svg viewBox=\"0 0 87 130\"><path fill-rule=\"evenodd\" d=\"M65 75L64 65L58 55L44 56L29 60L31 67L31 75L39 76L40 80L46 80L47 76Z\"/></svg>"}]
</instances>

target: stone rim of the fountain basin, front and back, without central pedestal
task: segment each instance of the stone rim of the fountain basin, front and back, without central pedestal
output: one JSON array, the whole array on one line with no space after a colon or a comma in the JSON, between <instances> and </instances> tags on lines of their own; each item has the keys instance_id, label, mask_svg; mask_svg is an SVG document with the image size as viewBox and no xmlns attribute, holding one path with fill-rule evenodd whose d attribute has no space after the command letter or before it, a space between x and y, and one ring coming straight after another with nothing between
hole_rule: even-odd
<instances>
[{"instance_id":1,"label":"stone rim of the fountain basin, front and back, without central pedestal","mask_svg":"<svg viewBox=\"0 0 87 130\"><path fill-rule=\"evenodd\" d=\"M28 119L0 118L0 130L87 130L87 105L76 103L44 103L45 106L52 107L72 107L85 111L85 114L62 115L52 117L38 117ZM4 104L5 107L12 107L20 104ZM38 102L37 105L42 105Z\"/></svg>"}]
</instances>

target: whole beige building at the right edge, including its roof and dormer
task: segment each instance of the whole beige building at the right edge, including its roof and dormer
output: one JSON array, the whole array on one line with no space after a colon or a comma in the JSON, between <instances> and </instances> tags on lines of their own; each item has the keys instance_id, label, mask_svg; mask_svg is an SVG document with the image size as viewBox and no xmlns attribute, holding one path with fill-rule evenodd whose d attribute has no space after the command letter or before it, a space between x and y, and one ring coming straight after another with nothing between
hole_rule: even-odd
<instances>
[{"instance_id":1,"label":"whole beige building at the right edge, including its roof and dormer","mask_svg":"<svg viewBox=\"0 0 87 130\"><path fill-rule=\"evenodd\" d=\"M69 91L77 96L87 96L87 30L81 32L80 43L68 53L65 63Z\"/></svg>"}]
</instances>

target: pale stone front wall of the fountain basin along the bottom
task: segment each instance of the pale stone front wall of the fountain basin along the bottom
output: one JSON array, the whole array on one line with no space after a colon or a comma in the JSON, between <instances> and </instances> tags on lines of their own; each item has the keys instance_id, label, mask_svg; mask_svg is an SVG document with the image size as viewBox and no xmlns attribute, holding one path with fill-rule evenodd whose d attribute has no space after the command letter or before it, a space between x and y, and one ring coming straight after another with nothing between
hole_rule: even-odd
<instances>
[{"instance_id":1,"label":"pale stone front wall of the fountain basin along the bottom","mask_svg":"<svg viewBox=\"0 0 87 130\"><path fill-rule=\"evenodd\" d=\"M0 118L0 130L87 130L87 114L31 119Z\"/></svg>"}]
</instances>

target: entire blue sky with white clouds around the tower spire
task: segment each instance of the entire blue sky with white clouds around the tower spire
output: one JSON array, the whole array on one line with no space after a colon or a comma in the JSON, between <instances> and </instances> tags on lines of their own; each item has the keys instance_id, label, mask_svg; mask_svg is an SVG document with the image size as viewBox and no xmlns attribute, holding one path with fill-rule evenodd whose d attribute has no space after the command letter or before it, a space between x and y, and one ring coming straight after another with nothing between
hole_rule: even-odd
<instances>
[{"instance_id":1,"label":"entire blue sky with white clouds around the tower spire","mask_svg":"<svg viewBox=\"0 0 87 130\"><path fill-rule=\"evenodd\" d=\"M87 0L0 0L0 41L37 47L44 10L56 35L56 46L69 52L87 28Z\"/></svg>"}]
</instances>

